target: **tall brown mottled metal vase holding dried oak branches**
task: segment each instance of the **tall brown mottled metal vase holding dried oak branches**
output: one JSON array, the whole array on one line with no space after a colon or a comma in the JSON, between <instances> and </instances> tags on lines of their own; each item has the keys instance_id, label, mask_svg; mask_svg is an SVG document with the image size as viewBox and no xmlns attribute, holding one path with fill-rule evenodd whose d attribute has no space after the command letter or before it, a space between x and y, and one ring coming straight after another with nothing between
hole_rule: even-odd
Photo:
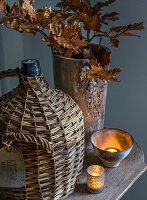
<instances>
[{"instance_id":1,"label":"tall brown mottled metal vase holding dried oak branches","mask_svg":"<svg viewBox=\"0 0 147 200\"><path fill-rule=\"evenodd\" d=\"M107 81L85 77L88 61L53 54L55 88L70 95L83 111L86 150L92 149L91 135L103 129L107 95Z\"/></svg>"}]
</instances>

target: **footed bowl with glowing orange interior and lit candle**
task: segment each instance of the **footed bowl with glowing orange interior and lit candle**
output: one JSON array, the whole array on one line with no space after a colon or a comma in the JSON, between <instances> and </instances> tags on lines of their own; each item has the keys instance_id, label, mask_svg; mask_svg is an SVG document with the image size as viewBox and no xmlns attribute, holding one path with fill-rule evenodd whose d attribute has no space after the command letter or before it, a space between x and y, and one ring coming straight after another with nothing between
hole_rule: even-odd
<instances>
[{"instance_id":1,"label":"footed bowl with glowing orange interior and lit candle","mask_svg":"<svg viewBox=\"0 0 147 200\"><path fill-rule=\"evenodd\" d=\"M119 129L103 129L93 133L91 142L106 167L117 167L134 145L133 137Z\"/></svg>"}]
</instances>

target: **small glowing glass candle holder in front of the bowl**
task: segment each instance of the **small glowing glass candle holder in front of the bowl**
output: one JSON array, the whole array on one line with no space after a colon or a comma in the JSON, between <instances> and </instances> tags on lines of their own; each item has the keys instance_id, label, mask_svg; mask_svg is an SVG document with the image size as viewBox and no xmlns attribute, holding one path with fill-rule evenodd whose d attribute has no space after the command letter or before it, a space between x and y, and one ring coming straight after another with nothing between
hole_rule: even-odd
<instances>
[{"instance_id":1,"label":"small glowing glass candle holder in front of the bowl","mask_svg":"<svg viewBox=\"0 0 147 200\"><path fill-rule=\"evenodd\" d=\"M104 189L105 169L99 165L87 169L87 189L90 193L100 193Z\"/></svg>"}]
</instances>

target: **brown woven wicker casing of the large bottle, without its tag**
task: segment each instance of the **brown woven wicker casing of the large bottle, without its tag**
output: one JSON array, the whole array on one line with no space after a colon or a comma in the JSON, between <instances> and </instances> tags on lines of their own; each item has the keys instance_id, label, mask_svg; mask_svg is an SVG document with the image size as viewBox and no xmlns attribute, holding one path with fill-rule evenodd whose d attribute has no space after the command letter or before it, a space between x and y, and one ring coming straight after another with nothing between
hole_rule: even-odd
<instances>
[{"instance_id":1,"label":"brown woven wicker casing of the large bottle, without its tag","mask_svg":"<svg viewBox=\"0 0 147 200\"><path fill-rule=\"evenodd\" d=\"M51 89L43 76L23 77L0 101L3 142L21 150L26 184L4 189L7 199L58 200L73 192L84 157L84 123L79 106L62 91Z\"/></svg>"}]
</instances>

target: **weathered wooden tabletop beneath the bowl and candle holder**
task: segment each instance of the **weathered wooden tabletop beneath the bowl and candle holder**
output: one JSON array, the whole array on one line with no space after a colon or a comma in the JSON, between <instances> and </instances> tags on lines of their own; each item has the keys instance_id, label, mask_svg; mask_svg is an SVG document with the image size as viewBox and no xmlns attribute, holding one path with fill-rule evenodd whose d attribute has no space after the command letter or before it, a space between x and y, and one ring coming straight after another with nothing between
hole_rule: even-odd
<instances>
[{"instance_id":1,"label":"weathered wooden tabletop beneath the bowl and candle holder","mask_svg":"<svg viewBox=\"0 0 147 200\"><path fill-rule=\"evenodd\" d=\"M144 154L135 143L129 156L117 168L105 168L106 179L104 190L99 194L90 194L86 186L86 169L93 164L102 165L95 152L90 151L85 158L85 165L79 183L66 200L119 200L132 184L146 171Z\"/></svg>"}]
</instances>

